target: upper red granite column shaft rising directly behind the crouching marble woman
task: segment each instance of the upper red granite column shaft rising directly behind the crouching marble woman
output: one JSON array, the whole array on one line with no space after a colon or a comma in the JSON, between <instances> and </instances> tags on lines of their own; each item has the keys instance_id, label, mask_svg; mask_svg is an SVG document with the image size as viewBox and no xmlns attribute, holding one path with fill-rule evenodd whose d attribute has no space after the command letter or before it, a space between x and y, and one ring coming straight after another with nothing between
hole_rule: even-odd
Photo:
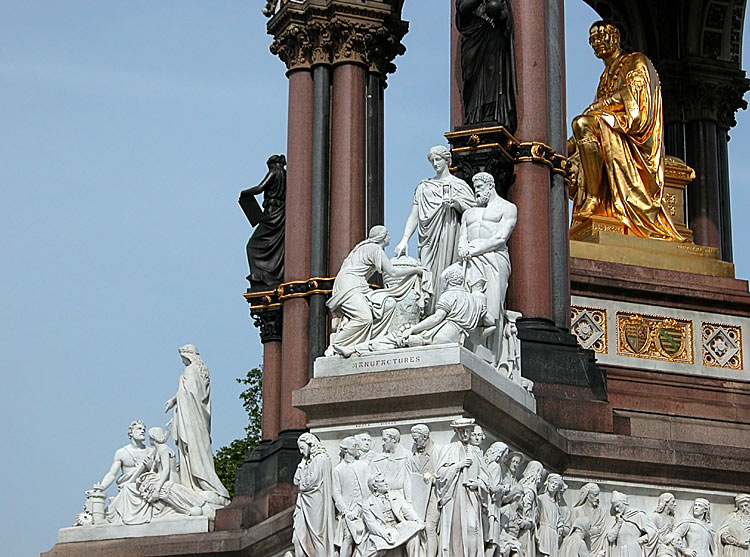
<instances>
[{"instance_id":1,"label":"upper red granite column shaft rising directly behind the crouching marble woman","mask_svg":"<svg viewBox=\"0 0 750 557\"><path fill-rule=\"evenodd\" d=\"M363 66L333 69L331 95L331 238L329 268L365 238L365 79Z\"/></svg>"}]
</instances>

